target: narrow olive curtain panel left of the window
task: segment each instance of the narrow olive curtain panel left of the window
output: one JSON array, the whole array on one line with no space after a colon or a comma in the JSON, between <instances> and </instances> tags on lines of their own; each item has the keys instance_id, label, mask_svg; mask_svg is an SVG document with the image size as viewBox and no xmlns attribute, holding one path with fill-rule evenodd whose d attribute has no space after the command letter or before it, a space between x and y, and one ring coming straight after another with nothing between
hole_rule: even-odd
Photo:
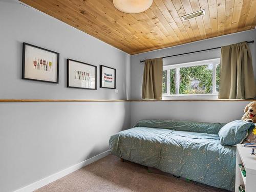
<instances>
[{"instance_id":1,"label":"narrow olive curtain panel left of the window","mask_svg":"<svg viewBox=\"0 0 256 192\"><path fill-rule=\"evenodd\" d=\"M145 60L142 99L162 99L162 73L163 58Z\"/></svg>"}]
</instances>

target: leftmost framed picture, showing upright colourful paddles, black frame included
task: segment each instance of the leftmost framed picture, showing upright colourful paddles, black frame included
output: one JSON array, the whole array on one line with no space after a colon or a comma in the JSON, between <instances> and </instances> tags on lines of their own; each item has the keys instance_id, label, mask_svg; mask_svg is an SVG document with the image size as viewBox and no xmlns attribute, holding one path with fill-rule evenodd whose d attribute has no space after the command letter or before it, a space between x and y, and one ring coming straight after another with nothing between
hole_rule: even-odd
<instances>
[{"instance_id":1,"label":"leftmost framed picture, showing upright colourful paddles, black frame included","mask_svg":"<svg viewBox=\"0 0 256 192\"><path fill-rule=\"evenodd\" d=\"M22 79L59 82L59 53L23 43Z\"/></svg>"}]
</instances>

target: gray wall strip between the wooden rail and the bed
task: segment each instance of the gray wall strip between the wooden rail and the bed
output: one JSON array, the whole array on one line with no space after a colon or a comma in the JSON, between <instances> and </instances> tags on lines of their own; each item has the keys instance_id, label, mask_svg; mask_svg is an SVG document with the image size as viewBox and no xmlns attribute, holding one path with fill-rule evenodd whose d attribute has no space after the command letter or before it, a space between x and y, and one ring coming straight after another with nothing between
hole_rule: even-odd
<instances>
[{"instance_id":1,"label":"gray wall strip between the wooden rail and the bed","mask_svg":"<svg viewBox=\"0 0 256 192\"><path fill-rule=\"evenodd\" d=\"M247 101L144 101L131 102L131 124L142 119L230 122L241 119Z\"/></svg>"}]
</instances>

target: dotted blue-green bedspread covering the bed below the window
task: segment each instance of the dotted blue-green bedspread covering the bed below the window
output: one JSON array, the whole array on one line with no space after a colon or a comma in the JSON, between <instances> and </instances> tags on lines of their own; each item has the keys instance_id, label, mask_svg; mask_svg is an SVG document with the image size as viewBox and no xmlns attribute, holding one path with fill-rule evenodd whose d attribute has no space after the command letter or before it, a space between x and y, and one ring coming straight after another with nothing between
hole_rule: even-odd
<instances>
[{"instance_id":1,"label":"dotted blue-green bedspread covering the bed below the window","mask_svg":"<svg viewBox=\"0 0 256 192\"><path fill-rule=\"evenodd\" d=\"M234 191L236 147L220 144L217 134L223 125L144 120L111 136L110 151L135 163Z\"/></svg>"}]
</instances>

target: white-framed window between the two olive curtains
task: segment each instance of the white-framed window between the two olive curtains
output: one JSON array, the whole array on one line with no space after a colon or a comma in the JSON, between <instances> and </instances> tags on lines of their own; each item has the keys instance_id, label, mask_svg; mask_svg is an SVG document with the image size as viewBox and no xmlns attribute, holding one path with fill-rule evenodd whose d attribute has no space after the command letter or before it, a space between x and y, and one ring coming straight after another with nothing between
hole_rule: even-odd
<instances>
[{"instance_id":1,"label":"white-framed window between the two olive curtains","mask_svg":"<svg viewBox=\"0 0 256 192\"><path fill-rule=\"evenodd\" d=\"M220 59L163 67L163 96L218 95Z\"/></svg>"}]
</instances>

